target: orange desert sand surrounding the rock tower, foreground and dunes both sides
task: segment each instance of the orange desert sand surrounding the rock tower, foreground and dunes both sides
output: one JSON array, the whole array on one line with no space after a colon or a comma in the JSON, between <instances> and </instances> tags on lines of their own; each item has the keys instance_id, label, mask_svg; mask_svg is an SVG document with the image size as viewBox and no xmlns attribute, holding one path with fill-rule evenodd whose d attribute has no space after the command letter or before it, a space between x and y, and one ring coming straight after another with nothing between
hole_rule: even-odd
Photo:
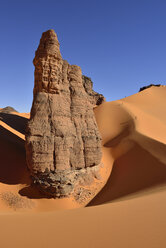
<instances>
[{"instance_id":1,"label":"orange desert sand surrounding the rock tower, foreground and dunes both sides","mask_svg":"<svg viewBox=\"0 0 166 248\"><path fill-rule=\"evenodd\" d=\"M30 186L29 115L0 113L0 247L166 247L165 99L166 87L151 87L94 109L103 183L87 208ZM67 208L78 209L55 211Z\"/></svg>"}]
</instances>

